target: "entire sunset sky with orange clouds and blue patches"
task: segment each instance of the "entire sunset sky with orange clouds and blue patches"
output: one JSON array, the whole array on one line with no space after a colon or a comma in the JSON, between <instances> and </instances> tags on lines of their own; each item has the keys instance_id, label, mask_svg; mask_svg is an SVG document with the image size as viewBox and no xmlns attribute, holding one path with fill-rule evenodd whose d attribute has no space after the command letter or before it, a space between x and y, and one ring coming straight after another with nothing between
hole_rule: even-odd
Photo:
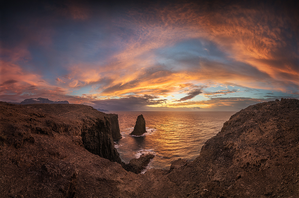
<instances>
[{"instance_id":1,"label":"entire sunset sky with orange clouds and blue patches","mask_svg":"<svg viewBox=\"0 0 299 198\"><path fill-rule=\"evenodd\" d=\"M239 111L299 98L295 1L10 1L0 101Z\"/></svg>"}]
</instances>

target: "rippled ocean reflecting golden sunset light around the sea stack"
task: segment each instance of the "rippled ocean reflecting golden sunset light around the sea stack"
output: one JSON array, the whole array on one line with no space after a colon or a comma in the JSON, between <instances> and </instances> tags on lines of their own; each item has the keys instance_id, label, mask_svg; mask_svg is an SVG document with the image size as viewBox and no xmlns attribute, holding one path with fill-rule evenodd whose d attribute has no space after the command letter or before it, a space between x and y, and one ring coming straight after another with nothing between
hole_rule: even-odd
<instances>
[{"instance_id":1,"label":"rippled ocean reflecting golden sunset light around the sea stack","mask_svg":"<svg viewBox=\"0 0 299 198\"><path fill-rule=\"evenodd\" d=\"M113 111L118 114L122 139L115 142L123 162L138 158L143 153L153 153L150 168L169 169L178 158L193 161L204 143L215 136L236 112L170 112L170 111ZM147 133L136 137L129 135L137 117L142 114ZM146 171L145 170L145 171ZM145 172L144 171L144 172Z\"/></svg>"}]
</instances>

